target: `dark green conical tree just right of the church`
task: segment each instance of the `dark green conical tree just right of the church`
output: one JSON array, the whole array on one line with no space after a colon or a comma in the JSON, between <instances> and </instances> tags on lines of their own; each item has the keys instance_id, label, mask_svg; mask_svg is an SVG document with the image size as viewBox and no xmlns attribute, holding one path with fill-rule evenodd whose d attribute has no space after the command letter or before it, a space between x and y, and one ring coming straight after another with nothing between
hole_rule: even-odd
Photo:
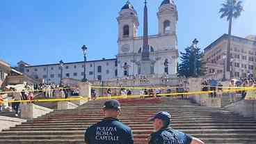
<instances>
[{"instance_id":1,"label":"dark green conical tree just right of the church","mask_svg":"<svg viewBox=\"0 0 256 144\"><path fill-rule=\"evenodd\" d=\"M200 77L205 75L204 54L200 52L197 44L198 40L195 39L190 47L186 47L184 53L180 52L181 63L178 66L179 77Z\"/></svg>"}]
</instances>

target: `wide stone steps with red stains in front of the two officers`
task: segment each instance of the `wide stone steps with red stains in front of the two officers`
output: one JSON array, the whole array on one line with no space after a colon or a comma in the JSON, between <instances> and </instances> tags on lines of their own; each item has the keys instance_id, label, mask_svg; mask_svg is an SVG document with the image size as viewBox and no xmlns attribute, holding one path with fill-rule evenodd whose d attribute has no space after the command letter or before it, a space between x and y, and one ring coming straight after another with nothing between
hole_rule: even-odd
<instances>
[{"instance_id":1,"label":"wide stone steps with red stains in front of the two officers","mask_svg":"<svg viewBox=\"0 0 256 144\"><path fill-rule=\"evenodd\" d=\"M0 132L0 143L82 144L87 127L99 122L104 100L90 101L79 109L57 110ZM188 100L122 99L120 120L133 130L134 143L145 144L152 133L147 122L158 111L169 111L171 127L198 137L205 143L256 143L256 120L243 118L224 109L191 104Z\"/></svg>"}]
</instances>

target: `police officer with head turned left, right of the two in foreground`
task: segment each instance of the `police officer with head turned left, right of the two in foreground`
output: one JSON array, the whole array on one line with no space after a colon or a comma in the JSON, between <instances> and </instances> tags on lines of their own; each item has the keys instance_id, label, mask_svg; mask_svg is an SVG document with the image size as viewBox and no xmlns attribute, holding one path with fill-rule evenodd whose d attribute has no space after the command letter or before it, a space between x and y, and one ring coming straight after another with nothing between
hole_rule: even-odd
<instances>
[{"instance_id":1,"label":"police officer with head turned left, right of the two in foreground","mask_svg":"<svg viewBox=\"0 0 256 144\"><path fill-rule=\"evenodd\" d=\"M205 144L200 139L184 134L182 131L171 129L170 125L170 113L166 111L160 111L149 121L154 121L154 130L149 138L149 144Z\"/></svg>"}]
</instances>

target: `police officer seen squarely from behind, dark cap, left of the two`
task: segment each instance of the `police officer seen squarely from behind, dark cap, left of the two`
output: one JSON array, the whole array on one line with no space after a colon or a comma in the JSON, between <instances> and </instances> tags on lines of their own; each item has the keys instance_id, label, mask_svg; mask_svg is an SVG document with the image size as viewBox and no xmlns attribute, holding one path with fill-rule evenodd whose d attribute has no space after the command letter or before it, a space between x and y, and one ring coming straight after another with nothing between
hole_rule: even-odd
<instances>
[{"instance_id":1,"label":"police officer seen squarely from behind, dark cap, left of the two","mask_svg":"<svg viewBox=\"0 0 256 144\"><path fill-rule=\"evenodd\" d=\"M86 129L86 144L133 144L131 129L118 120L120 103L111 99L104 103L105 118Z\"/></svg>"}]
</instances>

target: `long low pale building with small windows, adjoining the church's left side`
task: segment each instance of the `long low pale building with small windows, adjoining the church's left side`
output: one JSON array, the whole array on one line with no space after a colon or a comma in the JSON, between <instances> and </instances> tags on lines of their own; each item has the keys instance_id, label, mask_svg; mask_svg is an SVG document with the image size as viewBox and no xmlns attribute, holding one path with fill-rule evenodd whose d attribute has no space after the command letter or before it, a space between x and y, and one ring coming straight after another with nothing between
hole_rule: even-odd
<instances>
[{"instance_id":1,"label":"long low pale building with small windows, adjoining the church's left side","mask_svg":"<svg viewBox=\"0 0 256 144\"><path fill-rule=\"evenodd\" d=\"M43 83L61 83L62 78L83 79L84 63L54 63L49 65L29 65L24 67L24 73L34 79L41 79ZM86 79L102 80L113 79L117 77L117 59L102 59L97 61L86 62Z\"/></svg>"}]
</instances>

